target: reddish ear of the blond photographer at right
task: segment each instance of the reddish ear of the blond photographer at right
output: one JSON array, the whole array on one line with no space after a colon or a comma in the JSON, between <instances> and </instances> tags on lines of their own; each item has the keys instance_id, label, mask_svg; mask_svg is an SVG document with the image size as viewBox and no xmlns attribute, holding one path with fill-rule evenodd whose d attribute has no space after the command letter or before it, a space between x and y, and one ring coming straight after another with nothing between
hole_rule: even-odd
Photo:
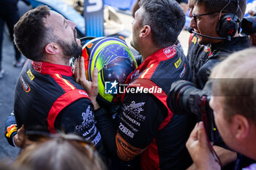
<instances>
[{"instance_id":1,"label":"reddish ear of the blond photographer at right","mask_svg":"<svg viewBox=\"0 0 256 170\"><path fill-rule=\"evenodd\" d=\"M249 135L249 121L243 115L232 117L232 132L236 139L245 139Z\"/></svg>"}]
</instances>

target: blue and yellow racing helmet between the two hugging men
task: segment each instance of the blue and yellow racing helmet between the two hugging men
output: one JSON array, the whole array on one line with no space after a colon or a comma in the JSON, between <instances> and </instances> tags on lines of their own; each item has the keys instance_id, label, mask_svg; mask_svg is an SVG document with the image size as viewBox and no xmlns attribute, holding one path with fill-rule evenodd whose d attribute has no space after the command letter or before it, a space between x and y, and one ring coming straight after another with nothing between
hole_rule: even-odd
<instances>
[{"instance_id":1,"label":"blue and yellow racing helmet between the two hugging men","mask_svg":"<svg viewBox=\"0 0 256 170\"><path fill-rule=\"evenodd\" d=\"M118 104L118 85L137 68L137 62L122 36L103 36L83 45L87 80L98 69L98 99L105 104Z\"/></svg>"}]
</instances>

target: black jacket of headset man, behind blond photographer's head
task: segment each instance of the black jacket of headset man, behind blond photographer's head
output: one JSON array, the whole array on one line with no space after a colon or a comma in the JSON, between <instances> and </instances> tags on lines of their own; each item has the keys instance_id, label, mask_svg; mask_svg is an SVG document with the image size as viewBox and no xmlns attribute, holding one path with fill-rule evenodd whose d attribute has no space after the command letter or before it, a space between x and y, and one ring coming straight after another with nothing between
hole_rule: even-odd
<instances>
[{"instance_id":1,"label":"black jacket of headset man, behind blond photographer's head","mask_svg":"<svg viewBox=\"0 0 256 170\"><path fill-rule=\"evenodd\" d=\"M203 89L211 74L211 70L217 63L222 61L231 53L244 50L248 47L250 47L250 43L247 36L238 36L231 39L230 42L224 41L211 45L211 55L208 56L196 75L197 88Z\"/></svg>"}]
</instances>

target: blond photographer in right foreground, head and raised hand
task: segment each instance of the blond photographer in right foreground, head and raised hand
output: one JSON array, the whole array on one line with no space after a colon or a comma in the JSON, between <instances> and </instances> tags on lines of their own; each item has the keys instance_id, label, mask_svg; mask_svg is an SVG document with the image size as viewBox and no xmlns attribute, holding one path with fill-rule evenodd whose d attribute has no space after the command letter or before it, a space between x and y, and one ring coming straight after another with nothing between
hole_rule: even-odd
<instances>
[{"instance_id":1,"label":"blond photographer in right foreground, head and raised hand","mask_svg":"<svg viewBox=\"0 0 256 170\"><path fill-rule=\"evenodd\" d=\"M256 49L242 50L219 63L211 73L210 106L219 134L228 147L256 160ZM232 67L230 67L232 66ZM197 170L221 169L212 154L205 127L197 123L187 141ZM256 169L252 164L247 169Z\"/></svg>"}]
</instances>

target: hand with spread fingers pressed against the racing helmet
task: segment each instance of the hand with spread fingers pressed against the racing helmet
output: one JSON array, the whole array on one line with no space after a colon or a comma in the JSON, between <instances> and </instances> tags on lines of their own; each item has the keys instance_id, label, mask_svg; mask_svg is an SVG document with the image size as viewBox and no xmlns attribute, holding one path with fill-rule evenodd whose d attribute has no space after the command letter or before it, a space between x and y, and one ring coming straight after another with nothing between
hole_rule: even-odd
<instances>
[{"instance_id":1,"label":"hand with spread fingers pressed against the racing helmet","mask_svg":"<svg viewBox=\"0 0 256 170\"><path fill-rule=\"evenodd\" d=\"M94 104L94 109L98 109L99 104L96 101L97 95L99 93L97 68L94 68L92 75L92 82L90 82L86 79L84 58L77 58L77 60L75 61L75 81L82 85L82 87L86 90L86 93L88 93L92 104Z\"/></svg>"}]
</instances>

